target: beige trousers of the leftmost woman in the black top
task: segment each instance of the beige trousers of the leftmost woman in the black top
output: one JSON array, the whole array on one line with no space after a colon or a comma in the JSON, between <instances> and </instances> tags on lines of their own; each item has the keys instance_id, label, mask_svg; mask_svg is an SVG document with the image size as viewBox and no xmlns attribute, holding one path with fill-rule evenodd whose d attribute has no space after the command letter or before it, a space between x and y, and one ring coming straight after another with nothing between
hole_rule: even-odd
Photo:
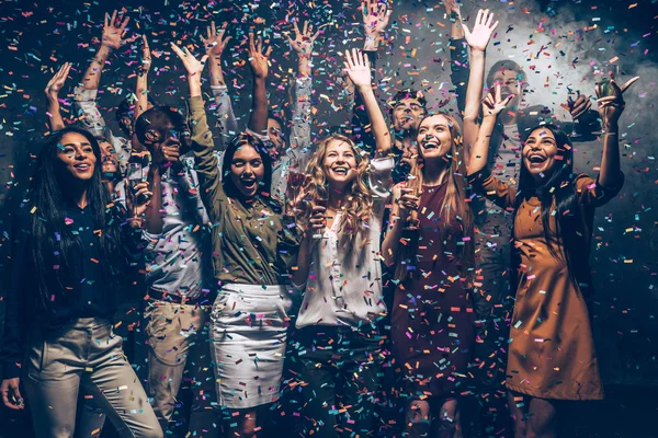
<instances>
[{"instance_id":1,"label":"beige trousers of the leftmost woman in the black top","mask_svg":"<svg viewBox=\"0 0 658 438\"><path fill-rule=\"evenodd\" d=\"M113 335L109 320L81 318L55 332L35 330L25 364L23 381L37 437L73 436L81 390L90 404L102 407L120 436L162 437L146 392L125 359L122 338Z\"/></svg>"}]
</instances>

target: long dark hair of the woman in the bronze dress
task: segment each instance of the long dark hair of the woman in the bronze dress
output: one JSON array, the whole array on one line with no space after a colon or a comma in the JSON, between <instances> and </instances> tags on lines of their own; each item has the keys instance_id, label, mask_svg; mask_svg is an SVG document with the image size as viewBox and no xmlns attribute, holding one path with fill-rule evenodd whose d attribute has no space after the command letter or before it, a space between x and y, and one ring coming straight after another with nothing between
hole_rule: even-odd
<instances>
[{"instance_id":1,"label":"long dark hair of the woman in the bronze dress","mask_svg":"<svg viewBox=\"0 0 658 438\"><path fill-rule=\"evenodd\" d=\"M552 124L531 129L525 141L537 129L546 129L553 134L557 145L557 157L561 157L561 165L556 162L554 165L559 168L555 169L543 184L536 184L525 165L521 165L515 208L519 208L525 198L536 196L540 199L544 239L548 245L548 251L554 257L566 262L569 278L575 286L580 286L580 289L585 292L590 287L591 280L587 256L589 252L586 247L585 217L574 185L574 147L569 136ZM525 141L523 145L525 145ZM553 211L554 204L555 211ZM556 229L554 232L548 227L551 216L555 216ZM557 239L560 243L559 246L553 245L553 238ZM520 263L520 260L514 262ZM518 264L512 266L518 266Z\"/></svg>"}]
</instances>

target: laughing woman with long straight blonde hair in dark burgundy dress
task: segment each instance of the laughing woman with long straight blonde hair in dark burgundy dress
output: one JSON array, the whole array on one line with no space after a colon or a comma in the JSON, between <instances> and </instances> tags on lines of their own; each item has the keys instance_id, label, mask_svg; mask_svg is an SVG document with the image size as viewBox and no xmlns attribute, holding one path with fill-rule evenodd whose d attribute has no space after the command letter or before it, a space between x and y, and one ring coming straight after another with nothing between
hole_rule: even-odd
<instances>
[{"instance_id":1,"label":"laughing woman with long straight blonde hair in dark burgundy dress","mask_svg":"<svg viewBox=\"0 0 658 438\"><path fill-rule=\"evenodd\" d=\"M457 388L475 341L465 148L447 114L426 116L416 141L417 162L409 181L394 187L382 246L385 263L396 266L393 355L409 400L407 436L461 437Z\"/></svg>"}]
</instances>

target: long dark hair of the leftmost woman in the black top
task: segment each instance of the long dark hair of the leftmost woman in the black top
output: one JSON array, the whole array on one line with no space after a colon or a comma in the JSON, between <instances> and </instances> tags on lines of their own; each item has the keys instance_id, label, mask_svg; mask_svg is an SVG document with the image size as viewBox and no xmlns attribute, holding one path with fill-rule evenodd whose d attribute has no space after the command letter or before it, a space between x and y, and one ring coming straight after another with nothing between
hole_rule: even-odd
<instances>
[{"instance_id":1,"label":"long dark hair of the leftmost woman in the black top","mask_svg":"<svg viewBox=\"0 0 658 438\"><path fill-rule=\"evenodd\" d=\"M67 181L57 158L64 136L69 132L82 135L91 145L97 162L91 180L87 183L88 209L93 218L94 230L100 232L101 266L106 291L117 285L117 277L126 275L121 261L121 207L112 203L103 184L101 149L97 139L86 129L69 126L45 138L36 159L36 168L30 186L30 201L36 207L32 215L32 256L41 296L41 304L47 307L50 295L65 293L64 278L73 269L75 252L83 251L79 238L71 227L65 223L63 206L67 201ZM59 265L54 269L54 265ZM49 285L58 285L57 290L48 290Z\"/></svg>"}]
</instances>

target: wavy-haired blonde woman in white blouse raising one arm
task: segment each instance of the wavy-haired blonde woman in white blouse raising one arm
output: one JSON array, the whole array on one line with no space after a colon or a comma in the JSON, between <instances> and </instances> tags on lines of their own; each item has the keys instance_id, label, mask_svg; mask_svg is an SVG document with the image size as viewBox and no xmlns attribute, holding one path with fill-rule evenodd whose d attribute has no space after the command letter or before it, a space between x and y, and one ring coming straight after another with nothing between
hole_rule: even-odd
<instances>
[{"instance_id":1,"label":"wavy-haired blonde woman in white blouse raising one arm","mask_svg":"<svg viewBox=\"0 0 658 438\"><path fill-rule=\"evenodd\" d=\"M293 283L304 298L293 339L306 402L304 436L320 438L374 430L383 357L377 321L387 312L379 238L393 186L390 136L371 87L367 57L348 51L345 70L363 97L375 158L368 160L345 136L324 139L297 203L305 233Z\"/></svg>"}]
</instances>

